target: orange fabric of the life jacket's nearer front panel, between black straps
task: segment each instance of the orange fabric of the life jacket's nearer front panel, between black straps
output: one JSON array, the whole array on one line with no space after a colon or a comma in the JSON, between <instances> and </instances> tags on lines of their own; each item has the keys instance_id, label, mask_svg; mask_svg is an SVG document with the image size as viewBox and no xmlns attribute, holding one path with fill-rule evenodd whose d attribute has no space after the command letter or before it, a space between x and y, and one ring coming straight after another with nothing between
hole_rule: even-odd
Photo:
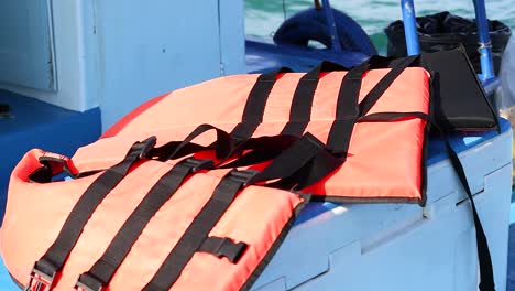
<instances>
[{"instance_id":1,"label":"orange fabric of the life jacket's nearer front panel, between black straps","mask_svg":"<svg viewBox=\"0 0 515 291\"><path fill-rule=\"evenodd\" d=\"M30 183L28 175L40 166L37 158L42 154L40 150L29 152L14 169L1 229L3 260L23 284L28 283L34 261L55 240L73 206L98 175L50 184ZM171 168L169 163L146 161L129 173L88 220L54 290L69 291L74 287L78 276L100 258L131 212ZM107 290L141 290L209 200L219 180L202 173L188 179L152 218ZM271 204L276 207L270 207ZM239 290L302 204L303 198L289 192L261 186L245 188L210 233L246 242L244 255L234 265L226 258L197 252L173 290Z\"/></svg>"}]
</instances>

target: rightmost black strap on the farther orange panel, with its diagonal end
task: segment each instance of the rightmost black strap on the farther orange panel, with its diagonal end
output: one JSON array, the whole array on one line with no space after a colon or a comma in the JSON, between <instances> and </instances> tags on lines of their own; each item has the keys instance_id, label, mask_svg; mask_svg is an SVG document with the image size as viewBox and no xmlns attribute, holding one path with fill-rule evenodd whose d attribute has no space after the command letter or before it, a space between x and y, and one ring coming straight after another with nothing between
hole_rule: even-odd
<instances>
[{"instance_id":1,"label":"rightmost black strap on the farther orange panel, with its diagonal end","mask_svg":"<svg viewBox=\"0 0 515 291\"><path fill-rule=\"evenodd\" d=\"M327 141L329 150L346 158L355 120L365 115L404 69L417 58L418 56L409 56L397 63L377 82L359 105L358 99L363 74L372 67L381 67L382 63L390 62L390 58L372 56L347 73L338 95L336 120L332 123Z\"/></svg>"}]
</instances>

